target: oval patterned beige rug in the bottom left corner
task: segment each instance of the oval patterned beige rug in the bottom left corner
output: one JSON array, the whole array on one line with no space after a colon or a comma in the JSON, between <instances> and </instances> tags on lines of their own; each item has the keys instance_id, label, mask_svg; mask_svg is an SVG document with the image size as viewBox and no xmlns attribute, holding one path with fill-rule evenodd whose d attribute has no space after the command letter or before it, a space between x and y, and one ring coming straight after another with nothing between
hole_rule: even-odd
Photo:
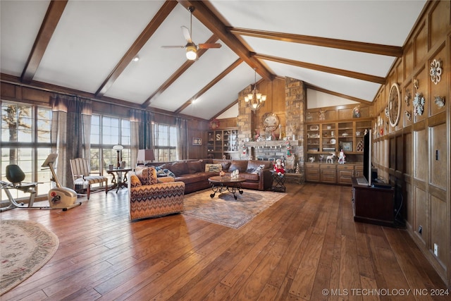
<instances>
[{"instance_id":1,"label":"oval patterned beige rug in the bottom left corner","mask_svg":"<svg viewBox=\"0 0 451 301\"><path fill-rule=\"evenodd\" d=\"M0 221L0 295L32 276L58 250L58 237L40 223Z\"/></svg>"}]
</instances>

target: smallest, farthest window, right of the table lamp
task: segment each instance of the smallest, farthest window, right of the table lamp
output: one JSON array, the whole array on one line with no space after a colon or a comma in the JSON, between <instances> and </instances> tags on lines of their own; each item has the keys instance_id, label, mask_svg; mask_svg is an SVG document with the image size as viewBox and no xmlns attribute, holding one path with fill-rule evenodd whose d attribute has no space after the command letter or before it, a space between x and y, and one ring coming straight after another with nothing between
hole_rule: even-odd
<instances>
[{"instance_id":1,"label":"smallest, farthest window, right of the table lamp","mask_svg":"<svg viewBox=\"0 0 451 301\"><path fill-rule=\"evenodd\" d=\"M154 123L154 149L157 162L177 160L177 128Z\"/></svg>"}]
</instances>

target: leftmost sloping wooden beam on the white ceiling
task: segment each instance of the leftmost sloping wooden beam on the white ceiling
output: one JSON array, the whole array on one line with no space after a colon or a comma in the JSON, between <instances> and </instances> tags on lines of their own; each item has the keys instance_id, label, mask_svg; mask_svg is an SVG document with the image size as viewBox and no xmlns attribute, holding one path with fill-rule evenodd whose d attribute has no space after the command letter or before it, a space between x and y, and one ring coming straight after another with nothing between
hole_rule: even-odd
<instances>
[{"instance_id":1,"label":"leftmost sloping wooden beam on the white ceiling","mask_svg":"<svg viewBox=\"0 0 451 301\"><path fill-rule=\"evenodd\" d=\"M51 36L54 34L56 25L58 25L59 19L63 15L64 8L66 8L67 0L54 1L52 0L47 8L44 20L42 21L41 28L37 33L35 44L30 51L27 63L23 68L20 80L23 82L31 82L35 77L37 68L42 61L42 57L49 45Z\"/></svg>"}]
</instances>

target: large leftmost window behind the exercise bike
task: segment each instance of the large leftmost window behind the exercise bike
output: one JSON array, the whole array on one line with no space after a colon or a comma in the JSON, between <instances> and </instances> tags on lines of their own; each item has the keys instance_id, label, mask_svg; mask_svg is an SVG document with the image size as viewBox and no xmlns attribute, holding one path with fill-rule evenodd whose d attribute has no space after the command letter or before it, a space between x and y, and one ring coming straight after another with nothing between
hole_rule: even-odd
<instances>
[{"instance_id":1,"label":"large leftmost window behind the exercise bike","mask_svg":"<svg viewBox=\"0 0 451 301\"><path fill-rule=\"evenodd\" d=\"M39 182L37 195L45 195L51 188L49 170L41 165L51 154L51 109L31 104L1 102L1 158L0 180L8 182L6 166L17 164L25 173L24 182ZM10 190L14 198L28 198L30 194ZM8 197L1 191L1 200Z\"/></svg>"}]
</instances>

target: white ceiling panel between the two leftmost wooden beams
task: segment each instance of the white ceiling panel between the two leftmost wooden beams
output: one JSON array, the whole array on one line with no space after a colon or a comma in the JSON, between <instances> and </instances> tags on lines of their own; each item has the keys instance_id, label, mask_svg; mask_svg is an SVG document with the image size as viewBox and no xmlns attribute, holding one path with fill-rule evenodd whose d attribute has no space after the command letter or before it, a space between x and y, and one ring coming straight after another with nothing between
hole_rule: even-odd
<instances>
[{"instance_id":1,"label":"white ceiling panel between the two leftmost wooden beams","mask_svg":"<svg viewBox=\"0 0 451 301\"><path fill-rule=\"evenodd\" d=\"M35 80L96 92L162 2L68 1Z\"/></svg>"}]
</instances>

